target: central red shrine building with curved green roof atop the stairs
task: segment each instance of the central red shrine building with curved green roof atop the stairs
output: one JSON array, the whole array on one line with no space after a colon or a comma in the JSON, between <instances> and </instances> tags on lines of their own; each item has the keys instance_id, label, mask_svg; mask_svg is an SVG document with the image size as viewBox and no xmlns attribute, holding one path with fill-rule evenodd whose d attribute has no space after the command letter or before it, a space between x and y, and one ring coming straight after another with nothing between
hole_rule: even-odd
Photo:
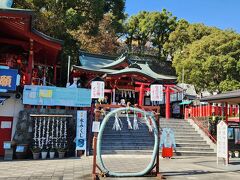
<instances>
[{"instance_id":1,"label":"central red shrine building with curved green roof atop the stairs","mask_svg":"<svg viewBox=\"0 0 240 180\"><path fill-rule=\"evenodd\" d=\"M105 103L140 106L160 105L166 118L171 116L171 104L182 101L183 89L175 84L176 77L158 74L145 62L128 56L118 58L81 52L80 65L73 66L72 76L79 79L81 87L90 88L90 82L101 77L105 81ZM150 101L150 84L164 86L163 101Z\"/></svg>"}]
</instances>

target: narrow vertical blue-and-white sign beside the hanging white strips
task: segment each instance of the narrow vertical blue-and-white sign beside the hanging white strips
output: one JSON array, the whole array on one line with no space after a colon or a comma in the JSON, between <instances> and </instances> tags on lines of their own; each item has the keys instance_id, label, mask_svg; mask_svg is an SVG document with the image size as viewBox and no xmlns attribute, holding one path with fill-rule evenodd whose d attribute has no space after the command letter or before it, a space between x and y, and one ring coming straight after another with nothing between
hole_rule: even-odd
<instances>
[{"instance_id":1,"label":"narrow vertical blue-and-white sign beside the hanging white strips","mask_svg":"<svg viewBox=\"0 0 240 180\"><path fill-rule=\"evenodd\" d=\"M87 148L87 111L77 111L76 150Z\"/></svg>"}]
</instances>

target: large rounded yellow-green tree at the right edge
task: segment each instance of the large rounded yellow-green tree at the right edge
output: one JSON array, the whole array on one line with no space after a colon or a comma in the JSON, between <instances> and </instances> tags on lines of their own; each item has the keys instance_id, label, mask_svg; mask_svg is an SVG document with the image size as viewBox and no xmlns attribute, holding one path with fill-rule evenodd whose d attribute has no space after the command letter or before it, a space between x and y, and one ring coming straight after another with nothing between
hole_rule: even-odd
<instances>
[{"instance_id":1,"label":"large rounded yellow-green tree at the right edge","mask_svg":"<svg viewBox=\"0 0 240 180\"><path fill-rule=\"evenodd\" d=\"M209 35L186 45L175 53L173 66L178 80L185 70L185 80L198 91L226 91L240 86L240 35L212 29ZM230 86L229 86L230 85Z\"/></svg>"}]
</instances>

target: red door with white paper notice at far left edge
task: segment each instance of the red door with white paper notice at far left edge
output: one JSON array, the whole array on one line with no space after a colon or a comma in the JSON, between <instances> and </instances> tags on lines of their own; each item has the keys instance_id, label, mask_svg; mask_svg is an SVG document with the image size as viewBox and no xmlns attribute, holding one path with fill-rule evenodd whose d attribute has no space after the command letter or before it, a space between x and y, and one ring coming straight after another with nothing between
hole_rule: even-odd
<instances>
[{"instance_id":1,"label":"red door with white paper notice at far left edge","mask_svg":"<svg viewBox=\"0 0 240 180\"><path fill-rule=\"evenodd\" d=\"M3 142L11 141L13 117L0 116L0 156L4 155Z\"/></svg>"}]
</instances>

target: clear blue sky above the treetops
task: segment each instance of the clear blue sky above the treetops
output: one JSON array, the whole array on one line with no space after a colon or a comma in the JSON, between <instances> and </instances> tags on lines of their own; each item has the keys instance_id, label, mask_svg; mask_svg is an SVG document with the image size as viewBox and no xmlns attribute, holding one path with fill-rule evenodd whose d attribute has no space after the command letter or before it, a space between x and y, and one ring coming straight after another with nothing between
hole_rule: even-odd
<instances>
[{"instance_id":1,"label":"clear blue sky above the treetops","mask_svg":"<svg viewBox=\"0 0 240 180\"><path fill-rule=\"evenodd\" d=\"M172 12L178 19L190 23L204 23L240 33L240 0L126 0L126 13L141 10Z\"/></svg>"}]
</instances>

